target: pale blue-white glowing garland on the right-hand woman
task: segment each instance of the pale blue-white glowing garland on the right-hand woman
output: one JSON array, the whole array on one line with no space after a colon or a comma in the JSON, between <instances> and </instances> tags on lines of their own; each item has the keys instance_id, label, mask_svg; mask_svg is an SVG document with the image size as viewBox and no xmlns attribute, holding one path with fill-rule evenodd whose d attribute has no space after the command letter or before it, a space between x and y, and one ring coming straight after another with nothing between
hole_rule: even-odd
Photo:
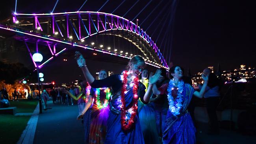
<instances>
[{"instance_id":1,"label":"pale blue-white glowing garland on the right-hand woman","mask_svg":"<svg viewBox=\"0 0 256 144\"><path fill-rule=\"evenodd\" d=\"M184 81L178 82L178 87L177 87L178 92L177 92L177 97L175 101L173 100L173 95L172 95L172 90L174 89L174 86L175 84L173 79L170 79L169 86L167 89L167 92L168 92L167 98L169 101L169 110L174 116L177 116L180 114L180 109L182 108L182 100L183 100L182 92L184 88Z\"/></svg>"}]
</instances>

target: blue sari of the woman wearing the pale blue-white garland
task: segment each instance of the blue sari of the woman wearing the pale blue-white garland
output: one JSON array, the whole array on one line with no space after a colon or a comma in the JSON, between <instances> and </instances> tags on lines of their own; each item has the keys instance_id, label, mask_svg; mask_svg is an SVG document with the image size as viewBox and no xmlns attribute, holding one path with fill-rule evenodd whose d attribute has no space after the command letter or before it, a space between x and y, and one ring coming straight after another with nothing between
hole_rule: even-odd
<instances>
[{"instance_id":1,"label":"blue sari of the woman wearing the pale blue-white garland","mask_svg":"<svg viewBox=\"0 0 256 144\"><path fill-rule=\"evenodd\" d=\"M195 144L196 129L187 107L194 93L193 87L185 83L183 91L183 105L180 115L174 116L168 110L165 122L165 131L163 132L163 141L165 144Z\"/></svg>"}]
</instances>

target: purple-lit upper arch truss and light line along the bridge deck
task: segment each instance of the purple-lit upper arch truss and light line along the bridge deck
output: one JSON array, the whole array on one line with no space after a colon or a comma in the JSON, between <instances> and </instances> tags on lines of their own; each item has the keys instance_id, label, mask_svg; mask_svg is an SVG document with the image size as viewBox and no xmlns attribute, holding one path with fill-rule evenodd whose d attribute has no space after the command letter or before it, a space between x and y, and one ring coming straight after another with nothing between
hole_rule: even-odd
<instances>
[{"instance_id":1,"label":"purple-lit upper arch truss and light line along the bridge deck","mask_svg":"<svg viewBox=\"0 0 256 144\"><path fill-rule=\"evenodd\" d=\"M59 24L57 23L57 21L60 22L63 20L59 20L59 18L56 18L58 16L63 16L63 15L66 17L64 19L64 21L66 21L65 22L66 23L66 28L65 28L66 33L63 33L63 31L61 31L61 28L59 27ZM152 50L156 53L158 60L160 61L160 62L155 61L155 63L152 63L152 61L151 61L151 63L150 63L150 61L148 60L149 63L147 63L147 64L158 67L158 68L164 67L166 69L169 69L159 48L156 46L154 41L152 41L151 37L149 37L147 35L146 31L143 31L143 29L141 29L139 26L137 26L132 21L129 21L126 18L120 17L118 15L113 15L110 13L95 12L95 11L76 11L76 12L65 12L65 13L43 13L43 14L14 13L13 14L13 22L18 21L19 18L28 17L28 16L33 16L35 18L34 19L35 20L34 21L35 29L41 30L41 31L43 31L43 28L41 26L42 23L40 24L39 21L42 21L42 20L39 20L39 18L43 18L42 16L51 17L50 19L52 20L51 28L52 28L53 35L58 35L58 33L59 33L61 35L61 37L63 37L63 38L56 39L56 38L51 38L50 35L48 35L48 37L43 37L38 34L26 33L23 31L16 31L16 32L27 34L30 36L35 36L35 37L46 39L49 41L55 41L55 42L60 42L63 44L79 46L79 47L81 47L82 45L76 44L76 42L78 42L78 41L83 42L88 37L91 37L91 36L99 34L99 33L104 33L106 31L121 30L121 31L128 31L128 32L134 33L138 37L142 38L141 40L143 40L147 44L149 44L148 46L150 46L152 48ZM81 16L83 16L84 19L82 19ZM74 17L76 17L76 18L74 18ZM74 25L74 20L77 23L76 26ZM85 24L84 20L87 20L88 23ZM81 27L81 24L82 24L82 27ZM76 38L74 37L74 35L73 36L70 35L69 27L71 28L72 33L74 35L76 35ZM56 28L57 28L57 30L56 30ZM85 32L82 31L82 28ZM88 29L89 29L89 31L88 31ZM8 29L8 30L10 30L10 29ZM65 41L66 36L72 42ZM74 41L76 41L76 42L74 42ZM49 50L52 55L55 55L55 56L58 55L58 53L56 55L55 45L54 45L54 52L52 52L52 49L49 44L48 44L48 47L49 47ZM86 46L83 46L83 47L85 47L87 49L91 49ZM93 50L95 50L95 49L93 49ZM116 56L120 56L120 57L124 57L124 58L128 58L128 59L130 58L130 57L125 57L122 55L114 54L111 52L106 52L103 50L96 50L96 51L103 52L106 54L116 55ZM150 57L150 58L154 58L154 57ZM150 58L147 57L147 59L150 59ZM161 63L161 64L158 64L158 63Z\"/></svg>"}]
</instances>

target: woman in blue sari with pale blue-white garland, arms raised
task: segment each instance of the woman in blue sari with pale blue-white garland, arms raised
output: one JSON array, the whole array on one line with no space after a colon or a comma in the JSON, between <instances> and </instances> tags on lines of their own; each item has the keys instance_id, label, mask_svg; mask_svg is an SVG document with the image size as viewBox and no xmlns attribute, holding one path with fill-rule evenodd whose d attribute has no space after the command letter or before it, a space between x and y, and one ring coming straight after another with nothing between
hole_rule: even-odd
<instances>
[{"instance_id":1,"label":"woman in blue sari with pale blue-white garland, arms raised","mask_svg":"<svg viewBox=\"0 0 256 144\"><path fill-rule=\"evenodd\" d=\"M163 142L164 144L195 144L196 129L187 107L193 95L202 98L208 83L208 76L202 75L204 84L198 92L181 79L183 73L180 66L173 66L169 72L172 77L169 83L162 85L159 89L155 85L153 87L154 94L165 93L169 101Z\"/></svg>"}]
</instances>

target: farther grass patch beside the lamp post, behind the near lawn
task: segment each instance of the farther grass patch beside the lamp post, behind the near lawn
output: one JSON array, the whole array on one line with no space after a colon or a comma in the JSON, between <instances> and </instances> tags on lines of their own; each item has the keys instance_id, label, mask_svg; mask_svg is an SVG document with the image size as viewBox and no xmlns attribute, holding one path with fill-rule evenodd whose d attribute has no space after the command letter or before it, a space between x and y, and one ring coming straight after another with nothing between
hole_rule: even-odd
<instances>
[{"instance_id":1,"label":"farther grass patch beside the lamp post, behind the near lawn","mask_svg":"<svg viewBox=\"0 0 256 144\"><path fill-rule=\"evenodd\" d=\"M38 100L19 100L17 102L16 100L13 102L12 100L10 102L10 107L17 107L17 113L33 113L35 110L35 107L37 106Z\"/></svg>"}]
</instances>

